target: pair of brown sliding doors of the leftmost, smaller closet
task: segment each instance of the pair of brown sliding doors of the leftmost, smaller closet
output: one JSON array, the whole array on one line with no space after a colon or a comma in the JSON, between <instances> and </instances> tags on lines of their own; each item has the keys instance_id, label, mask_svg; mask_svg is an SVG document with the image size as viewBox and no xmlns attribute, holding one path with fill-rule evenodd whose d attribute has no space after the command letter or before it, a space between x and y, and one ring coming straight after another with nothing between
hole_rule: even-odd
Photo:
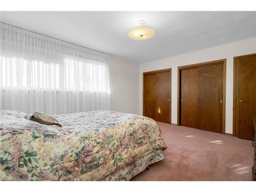
<instances>
[{"instance_id":1,"label":"pair of brown sliding doors of the leftmost, smaller closet","mask_svg":"<svg viewBox=\"0 0 256 192\"><path fill-rule=\"evenodd\" d=\"M170 123L170 70L144 74L143 115Z\"/></svg>"}]
</instances>

